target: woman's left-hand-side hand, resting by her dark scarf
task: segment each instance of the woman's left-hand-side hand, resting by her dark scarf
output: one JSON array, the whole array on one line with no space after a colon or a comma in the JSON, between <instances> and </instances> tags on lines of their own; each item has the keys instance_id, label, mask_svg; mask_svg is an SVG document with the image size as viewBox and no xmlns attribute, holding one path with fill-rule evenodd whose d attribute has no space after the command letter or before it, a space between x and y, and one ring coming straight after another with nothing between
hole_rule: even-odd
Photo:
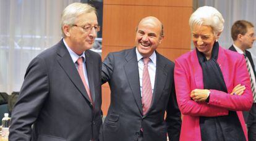
<instances>
[{"instance_id":1,"label":"woman's left-hand-side hand, resting by her dark scarf","mask_svg":"<svg viewBox=\"0 0 256 141\"><path fill-rule=\"evenodd\" d=\"M208 89L194 89L190 92L190 97L195 102L205 102L210 95L210 90Z\"/></svg>"}]
</instances>

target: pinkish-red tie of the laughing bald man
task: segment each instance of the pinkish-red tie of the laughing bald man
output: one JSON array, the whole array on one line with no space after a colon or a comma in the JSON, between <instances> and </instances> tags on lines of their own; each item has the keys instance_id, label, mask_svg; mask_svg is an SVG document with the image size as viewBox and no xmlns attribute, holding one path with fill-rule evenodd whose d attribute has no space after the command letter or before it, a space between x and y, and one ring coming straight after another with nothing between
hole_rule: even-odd
<instances>
[{"instance_id":1,"label":"pinkish-red tie of the laughing bald man","mask_svg":"<svg viewBox=\"0 0 256 141\"><path fill-rule=\"evenodd\" d=\"M148 62L150 58L143 58L144 68L142 75L142 105L143 105L143 115L145 115L150 108L152 101L152 89L150 83L150 76L148 73Z\"/></svg>"}]
</instances>

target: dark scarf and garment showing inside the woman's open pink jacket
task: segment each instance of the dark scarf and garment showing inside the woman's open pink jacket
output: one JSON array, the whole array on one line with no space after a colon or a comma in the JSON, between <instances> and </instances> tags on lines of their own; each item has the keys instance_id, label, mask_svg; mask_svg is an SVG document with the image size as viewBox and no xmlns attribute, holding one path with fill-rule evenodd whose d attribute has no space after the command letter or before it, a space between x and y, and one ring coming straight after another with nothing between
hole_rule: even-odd
<instances>
[{"instance_id":1,"label":"dark scarf and garment showing inside the woman's open pink jacket","mask_svg":"<svg viewBox=\"0 0 256 141\"><path fill-rule=\"evenodd\" d=\"M198 62L203 71L204 89L215 89L228 93L220 65L217 62L219 44L215 42L211 50L211 58L207 60L202 52L196 49ZM229 111L228 116L204 117L200 116L202 140L245 140L244 131L237 117L236 111Z\"/></svg>"}]
</instances>

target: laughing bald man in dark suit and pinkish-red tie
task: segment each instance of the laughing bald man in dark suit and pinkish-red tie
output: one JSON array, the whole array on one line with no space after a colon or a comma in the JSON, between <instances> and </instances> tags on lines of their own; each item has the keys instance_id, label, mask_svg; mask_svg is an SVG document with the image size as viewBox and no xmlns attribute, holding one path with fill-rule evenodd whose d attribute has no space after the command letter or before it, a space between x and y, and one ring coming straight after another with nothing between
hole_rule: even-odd
<instances>
[{"instance_id":1,"label":"laughing bald man in dark suit and pinkish-red tie","mask_svg":"<svg viewBox=\"0 0 256 141\"><path fill-rule=\"evenodd\" d=\"M156 52L163 37L160 20L143 18L137 26L137 46L105 58L102 81L111 89L103 124L105 141L160 141L167 139L167 133L170 140L179 140L181 113L174 89L174 63Z\"/></svg>"}]
</instances>

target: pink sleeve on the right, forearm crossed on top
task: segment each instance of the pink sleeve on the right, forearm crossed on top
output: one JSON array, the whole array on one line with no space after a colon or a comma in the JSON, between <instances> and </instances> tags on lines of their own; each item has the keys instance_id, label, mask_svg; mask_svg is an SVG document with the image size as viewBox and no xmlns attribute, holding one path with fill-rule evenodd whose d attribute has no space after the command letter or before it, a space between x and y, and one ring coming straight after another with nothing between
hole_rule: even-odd
<instances>
[{"instance_id":1,"label":"pink sleeve on the right, forearm crossed on top","mask_svg":"<svg viewBox=\"0 0 256 141\"><path fill-rule=\"evenodd\" d=\"M230 95L222 91L210 90L209 105L226 108L233 111L248 111L252 107L252 90L250 89L250 76L244 57L241 55L235 68L234 86L245 86L242 95Z\"/></svg>"}]
</instances>

